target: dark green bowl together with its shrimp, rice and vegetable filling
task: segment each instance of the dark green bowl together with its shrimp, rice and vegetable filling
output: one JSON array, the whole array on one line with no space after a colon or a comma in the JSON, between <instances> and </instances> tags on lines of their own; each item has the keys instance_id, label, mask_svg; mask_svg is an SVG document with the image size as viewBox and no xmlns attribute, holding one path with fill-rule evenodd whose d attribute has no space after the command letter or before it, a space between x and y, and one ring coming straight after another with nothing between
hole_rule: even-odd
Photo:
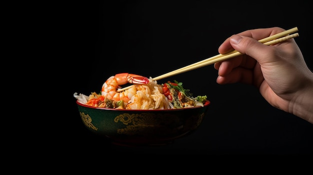
<instances>
[{"instance_id":1,"label":"dark green bowl together with its shrimp, rice and vegetable filling","mask_svg":"<svg viewBox=\"0 0 313 175\"><path fill-rule=\"evenodd\" d=\"M89 96L74 93L83 124L113 144L150 146L171 143L192 133L208 110L210 102L206 96L193 98L189 90L175 80L157 84L152 78L122 74L121 77L128 79L126 82L141 83L131 86L135 89L126 88L131 89L130 92L118 92L121 83L116 85L110 81L118 82L119 76L105 81L100 93L93 92ZM106 91L107 85L112 87Z\"/></svg>"}]
</instances>

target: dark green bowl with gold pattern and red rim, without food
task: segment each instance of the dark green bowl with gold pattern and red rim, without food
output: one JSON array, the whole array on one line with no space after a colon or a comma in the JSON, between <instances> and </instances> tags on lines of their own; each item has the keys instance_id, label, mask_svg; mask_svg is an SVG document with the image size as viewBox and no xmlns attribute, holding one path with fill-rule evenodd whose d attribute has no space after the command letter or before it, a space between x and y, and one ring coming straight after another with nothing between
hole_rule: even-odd
<instances>
[{"instance_id":1,"label":"dark green bowl with gold pattern and red rim, without food","mask_svg":"<svg viewBox=\"0 0 313 175\"><path fill-rule=\"evenodd\" d=\"M208 110L203 107L163 110L125 110L98 108L79 103L85 127L120 146L160 146L195 131Z\"/></svg>"}]
</instances>

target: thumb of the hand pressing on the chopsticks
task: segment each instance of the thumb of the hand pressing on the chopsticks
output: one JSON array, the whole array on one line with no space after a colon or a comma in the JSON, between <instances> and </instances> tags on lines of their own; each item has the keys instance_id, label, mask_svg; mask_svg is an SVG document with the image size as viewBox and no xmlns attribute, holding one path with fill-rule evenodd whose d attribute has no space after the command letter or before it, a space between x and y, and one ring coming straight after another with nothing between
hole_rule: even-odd
<instances>
[{"instance_id":1,"label":"thumb of the hand pressing on the chopsticks","mask_svg":"<svg viewBox=\"0 0 313 175\"><path fill-rule=\"evenodd\" d=\"M230 37L229 42L235 50L251 56L259 63L266 61L266 59L270 58L267 55L271 53L269 51L269 49L271 48L258 42L254 38L234 34Z\"/></svg>"}]
</instances>

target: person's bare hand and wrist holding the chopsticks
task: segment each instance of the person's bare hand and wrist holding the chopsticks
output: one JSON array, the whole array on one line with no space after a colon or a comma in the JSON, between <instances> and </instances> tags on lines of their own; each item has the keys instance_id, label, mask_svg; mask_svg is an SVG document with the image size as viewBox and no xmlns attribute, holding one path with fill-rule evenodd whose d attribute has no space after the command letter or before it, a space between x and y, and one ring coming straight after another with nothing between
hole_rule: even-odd
<instances>
[{"instance_id":1,"label":"person's bare hand and wrist holding the chopsticks","mask_svg":"<svg viewBox=\"0 0 313 175\"><path fill-rule=\"evenodd\" d=\"M218 84L246 83L259 89L272 106L313 124L313 73L294 39L267 46L257 40L285 31L279 27L246 30L218 48L243 55L214 64Z\"/></svg>"}]
</instances>

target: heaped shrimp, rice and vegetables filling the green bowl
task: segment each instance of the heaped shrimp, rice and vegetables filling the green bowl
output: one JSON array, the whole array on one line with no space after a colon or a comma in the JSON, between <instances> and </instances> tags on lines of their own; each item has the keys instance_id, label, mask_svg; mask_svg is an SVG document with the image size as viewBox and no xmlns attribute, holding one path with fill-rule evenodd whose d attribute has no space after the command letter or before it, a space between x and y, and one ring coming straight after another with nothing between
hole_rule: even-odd
<instances>
[{"instance_id":1,"label":"heaped shrimp, rice and vegetables filling the green bowl","mask_svg":"<svg viewBox=\"0 0 313 175\"><path fill-rule=\"evenodd\" d=\"M120 85L134 83L118 92ZM157 84L152 78L120 73L109 77L102 85L101 92L89 96L74 93L78 102L93 107L114 109L179 109L201 106L206 96L192 97L181 82Z\"/></svg>"}]
</instances>

